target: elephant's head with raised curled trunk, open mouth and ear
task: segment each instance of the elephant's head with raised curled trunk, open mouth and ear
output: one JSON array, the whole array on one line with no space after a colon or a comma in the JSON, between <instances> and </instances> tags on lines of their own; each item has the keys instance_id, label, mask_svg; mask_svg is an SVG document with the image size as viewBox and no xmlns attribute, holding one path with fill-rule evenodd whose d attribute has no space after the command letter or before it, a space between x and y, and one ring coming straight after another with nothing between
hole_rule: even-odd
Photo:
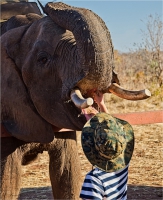
<instances>
[{"instance_id":1,"label":"elephant's head with raised curled trunk, open mouth and ear","mask_svg":"<svg viewBox=\"0 0 163 200\"><path fill-rule=\"evenodd\" d=\"M102 19L63 3L44 9L47 16L1 36L2 122L14 137L41 143L53 140L54 127L81 130L80 107L93 103L83 98L92 89L125 93L115 84L113 45Z\"/></svg>"}]
</instances>

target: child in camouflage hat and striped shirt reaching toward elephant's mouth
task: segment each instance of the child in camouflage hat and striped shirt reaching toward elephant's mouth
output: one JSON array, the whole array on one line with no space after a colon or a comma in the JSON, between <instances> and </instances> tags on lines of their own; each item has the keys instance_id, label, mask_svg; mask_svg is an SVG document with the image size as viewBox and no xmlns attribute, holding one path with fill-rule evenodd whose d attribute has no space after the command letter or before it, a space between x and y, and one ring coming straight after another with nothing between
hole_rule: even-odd
<instances>
[{"instance_id":1,"label":"child in camouflage hat and striped shirt reaching toward elephant's mouth","mask_svg":"<svg viewBox=\"0 0 163 200\"><path fill-rule=\"evenodd\" d=\"M102 93L95 94L94 100L101 112L93 108L90 113L87 109L83 111L88 121L81 142L95 168L86 175L80 198L126 200L128 166L134 149L133 129L128 122L108 114Z\"/></svg>"}]
</instances>

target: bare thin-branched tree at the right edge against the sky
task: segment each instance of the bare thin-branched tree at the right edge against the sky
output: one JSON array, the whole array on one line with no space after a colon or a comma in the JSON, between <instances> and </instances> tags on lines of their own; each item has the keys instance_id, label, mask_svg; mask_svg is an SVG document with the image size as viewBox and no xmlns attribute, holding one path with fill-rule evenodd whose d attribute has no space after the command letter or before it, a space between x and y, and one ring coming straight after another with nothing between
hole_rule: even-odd
<instances>
[{"instance_id":1,"label":"bare thin-branched tree at the right edge against the sky","mask_svg":"<svg viewBox=\"0 0 163 200\"><path fill-rule=\"evenodd\" d=\"M141 30L142 43L138 46L138 53L146 63L146 74L152 75L150 80L157 81L161 86L163 84L163 21L157 14L149 15L145 26L146 30Z\"/></svg>"}]
</instances>

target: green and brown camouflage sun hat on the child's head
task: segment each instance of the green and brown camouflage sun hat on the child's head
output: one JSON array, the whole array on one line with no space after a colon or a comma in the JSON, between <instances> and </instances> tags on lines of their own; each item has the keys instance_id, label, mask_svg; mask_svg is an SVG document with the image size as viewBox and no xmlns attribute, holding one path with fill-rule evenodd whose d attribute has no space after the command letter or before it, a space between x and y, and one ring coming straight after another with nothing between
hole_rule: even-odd
<instances>
[{"instance_id":1,"label":"green and brown camouflage sun hat on the child's head","mask_svg":"<svg viewBox=\"0 0 163 200\"><path fill-rule=\"evenodd\" d=\"M128 122L98 113L84 125L81 142L93 166L113 172L129 163L134 150L134 132Z\"/></svg>"}]
</instances>

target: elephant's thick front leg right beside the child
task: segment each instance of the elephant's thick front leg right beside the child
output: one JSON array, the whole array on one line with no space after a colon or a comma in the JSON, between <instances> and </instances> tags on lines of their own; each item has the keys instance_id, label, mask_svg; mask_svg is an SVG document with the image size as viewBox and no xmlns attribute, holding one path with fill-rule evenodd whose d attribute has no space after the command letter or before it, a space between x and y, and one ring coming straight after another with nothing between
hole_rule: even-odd
<instances>
[{"instance_id":1,"label":"elephant's thick front leg right beside the child","mask_svg":"<svg viewBox=\"0 0 163 200\"><path fill-rule=\"evenodd\" d=\"M55 133L55 140L49 149L49 172L54 199L79 199L81 169L76 132Z\"/></svg>"}]
</instances>

